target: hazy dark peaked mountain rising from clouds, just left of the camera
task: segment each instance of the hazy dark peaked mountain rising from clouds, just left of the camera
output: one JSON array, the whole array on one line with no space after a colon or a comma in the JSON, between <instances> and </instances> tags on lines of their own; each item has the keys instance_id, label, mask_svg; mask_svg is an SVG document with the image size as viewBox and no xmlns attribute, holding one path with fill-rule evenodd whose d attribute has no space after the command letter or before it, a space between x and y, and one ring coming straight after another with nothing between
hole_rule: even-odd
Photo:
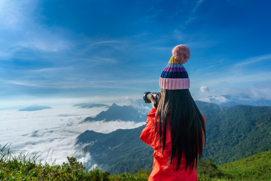
<instances>
[{"instance_id":1,"label":"hazy dark peaked mountain rising from clouds, just left of the camera","mask_svg":"<svg viewBox=\"0 0 271 181\"><path fill-rule=\"evenodd\" d=\"M112 121L112 120L122 120L122 121L134 121L143 122L145 121L146 112L145 110L140 110L134 106L118 106L117 104L112 104L110 108L106 111L100 112L95 118L87 117L84 122L88 121Z\"/></svg>"}]
</instances>

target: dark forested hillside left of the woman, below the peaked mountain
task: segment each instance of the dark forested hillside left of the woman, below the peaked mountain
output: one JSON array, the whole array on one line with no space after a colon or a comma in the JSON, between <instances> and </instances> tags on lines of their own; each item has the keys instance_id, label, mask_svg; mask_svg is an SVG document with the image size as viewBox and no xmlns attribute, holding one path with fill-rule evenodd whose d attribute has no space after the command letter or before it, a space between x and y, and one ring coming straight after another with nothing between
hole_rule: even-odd
<instances>
[{"instance_id":1,"label":"dark forested hillside left of the woman, below the peaked mountain","mask_svg":"<svg viewBox=\"0 0 271 181\"><path fill-rule=\"evenodd\" d=\"M145 125L134 129L119 129L109 134L86 131L78 136L77 143L86 143L86 140L92 142L87 150L92 156L92 163L97 163L102 170L111 173L127 170L134 172L138 168L150 170L153 149L139 139L143 128Z\"/></svg>"}]
</instances>

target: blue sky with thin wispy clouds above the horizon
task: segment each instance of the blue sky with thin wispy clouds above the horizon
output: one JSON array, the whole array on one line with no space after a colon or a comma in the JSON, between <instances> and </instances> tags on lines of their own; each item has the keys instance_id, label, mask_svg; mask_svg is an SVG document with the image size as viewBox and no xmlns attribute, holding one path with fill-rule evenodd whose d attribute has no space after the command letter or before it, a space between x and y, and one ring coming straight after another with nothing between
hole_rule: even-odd
<instances>
[{"instance_id":1,"label":"blue sky with thin wispy clouds above the horizon","mask_svg":"<svg viewBox=\"0 0 271 181\"><path fill-rule=\"evenodd\" d=\"M0 107L159 91L185 44L195 100L271 100L270 1L0 1ZM47 102L46 102L47 101Z\"/></svg>"}]
</instances>

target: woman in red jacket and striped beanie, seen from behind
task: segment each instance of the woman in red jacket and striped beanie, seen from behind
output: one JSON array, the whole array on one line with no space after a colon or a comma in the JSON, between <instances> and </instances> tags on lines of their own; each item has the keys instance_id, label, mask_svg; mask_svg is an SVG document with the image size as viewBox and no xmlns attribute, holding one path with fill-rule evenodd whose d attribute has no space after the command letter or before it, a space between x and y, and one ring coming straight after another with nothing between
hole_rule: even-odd
<instances>
[{"instance_id":1,"label":"woman in red jacket and striped beanie, seen from behind","mask_svg":"<svg viewBox=\"0 0 271 181\"><path fill-rule=\"evenodd\" d=\"M205 118L190 94L190 80L183 67L190 50L186 45L177 45L172 54L160 76L157 109L150 95L153 108L140 139L154 149L149 181L196 181L195 168L205 144Z\"/></svg>"}]
</instances>

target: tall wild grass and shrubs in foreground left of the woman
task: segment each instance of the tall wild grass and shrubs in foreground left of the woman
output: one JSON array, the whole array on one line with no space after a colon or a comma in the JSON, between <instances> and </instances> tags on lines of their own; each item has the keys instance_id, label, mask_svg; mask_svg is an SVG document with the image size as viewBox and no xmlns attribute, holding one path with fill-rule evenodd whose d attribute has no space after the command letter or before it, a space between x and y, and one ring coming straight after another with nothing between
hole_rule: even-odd
<instances>
[{"instance_id":1,"label":"tall wild grass and shrubs in foreground left of the woman","mask_svg":"<svg viewBox=\"0 0 271 181\"><path fill-rule=\"evenodd\" d=\"M38 153L13 153L10 145L0 145L0 180L13 181L147 181L150 172L139 170L136 174L121 173L110 175L110 172L93 168L86 170L82 162L75 157L67 157L61 165L41 163Z\"/></svg>"}]
</instances>

